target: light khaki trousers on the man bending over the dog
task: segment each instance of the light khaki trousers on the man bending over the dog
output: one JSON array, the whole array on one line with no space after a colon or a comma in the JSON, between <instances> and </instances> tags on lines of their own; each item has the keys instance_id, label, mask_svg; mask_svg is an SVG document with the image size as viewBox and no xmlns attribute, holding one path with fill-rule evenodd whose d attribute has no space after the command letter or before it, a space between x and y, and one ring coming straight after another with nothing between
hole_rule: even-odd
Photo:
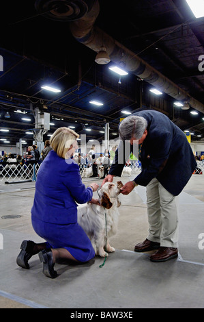
<instances>
[{"instance_id":1,"label":"light khaki trousers on the man bending over the dog","mask_svg":"<svg viewBox=\"0 0 204 322\"><path fill-rule=\"evenodd\" d=\"M158 179L147 185L148 240L162 247L178 247L177 197L171 195Z\"/></svg>"}]
</instances>

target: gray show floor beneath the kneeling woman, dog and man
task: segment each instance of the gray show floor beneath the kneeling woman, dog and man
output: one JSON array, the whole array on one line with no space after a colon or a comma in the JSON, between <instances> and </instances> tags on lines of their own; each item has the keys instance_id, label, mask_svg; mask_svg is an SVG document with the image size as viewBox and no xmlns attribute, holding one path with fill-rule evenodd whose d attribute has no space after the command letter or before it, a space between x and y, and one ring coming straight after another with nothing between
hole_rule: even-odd
<instances>
[{"instance_id":1,"label":"gray show floor beneath the kneeling woman, dog and man","mask_svg":"<svg viewBox=\"0 0 204 322\"><path fill-rule=\"evenodd\" d=\"M125 184L134 177L115 177L114 182L120 179ZM102 179L83 182L101 184ZM130 195L119 195L119 227L111 238L115 253L105 262L98 256L85 264L57 262L54 280L42 273L38 255L29 260L29 270L16 264L22 240L43 241L31 225L35 182L1 182L0 308L203 308L203 182L204 175L192 175L178 197L177 259L156 263L149 260L153 251L134 252L148 230L145 188L137 186Z\"/></svg>"}]
</instances>

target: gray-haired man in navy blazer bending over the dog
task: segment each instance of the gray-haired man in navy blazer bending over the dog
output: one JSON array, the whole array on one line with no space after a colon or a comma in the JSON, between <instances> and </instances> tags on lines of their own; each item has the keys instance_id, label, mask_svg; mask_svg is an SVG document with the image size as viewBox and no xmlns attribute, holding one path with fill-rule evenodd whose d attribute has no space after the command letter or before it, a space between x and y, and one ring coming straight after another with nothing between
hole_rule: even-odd
<instances>
[{"instance_id":1,"label":"gray-haired man in navy blazer bending over the dog","mask_svg":"<svg viewBox=\"0 0 204 322\"><path fill-rule=\"evenodd\" d=\"M129 140L130 151L134 144L139 145L142 171L121 188L121 193L128 195L137 185L147 187L149 234L143 243L134 247L134 251L158 249L150 256L154 262L177 258L176 196L181 193L196 168L186 135L166 115L154 110L143 110L121 121L119 136L121 143L104 182L112 182L115 175L121 176L126 163L123 143Z\"/></svg>"}]
</instances>

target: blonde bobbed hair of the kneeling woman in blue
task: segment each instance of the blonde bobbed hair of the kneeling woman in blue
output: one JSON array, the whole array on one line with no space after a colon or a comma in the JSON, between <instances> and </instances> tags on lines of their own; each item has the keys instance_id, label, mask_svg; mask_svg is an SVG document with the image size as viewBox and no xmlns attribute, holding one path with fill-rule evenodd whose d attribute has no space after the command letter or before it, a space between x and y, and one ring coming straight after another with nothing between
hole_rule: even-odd
<instances>
[{"instance_id":1,"label":"blonde bobbed hair of the kneeling woman in blue","mask_svg":"<svg viewBox=\"0 0 204 322\"><path fill-rule=\"evenodd\" d=\"M57 155L65 159L65 154L79 135L69 127L59 127L50 139L50 145Z\"/></svg>"}]
</instances>

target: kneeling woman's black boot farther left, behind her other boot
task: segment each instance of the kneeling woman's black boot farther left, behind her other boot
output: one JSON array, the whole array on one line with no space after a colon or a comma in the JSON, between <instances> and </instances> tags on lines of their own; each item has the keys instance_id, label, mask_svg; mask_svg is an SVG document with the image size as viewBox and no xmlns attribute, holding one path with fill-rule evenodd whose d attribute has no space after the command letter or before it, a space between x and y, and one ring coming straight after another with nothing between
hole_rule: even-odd
<instances>
[{"instance_id":1,"label":"kneeling woman's black boot farther left, behind her other boot","mask_svg":"<svg viewBox=\"0 0 204 322\"><path fill-rule=\"evenodd\" d=\"M31 240L23 240L22 244L20 245L20 253L16 258L16 263L18 266L23 267L23 269L29 269L29 259L33 256L33 248L35 243Z\"/></svg>"}]
</instances>

